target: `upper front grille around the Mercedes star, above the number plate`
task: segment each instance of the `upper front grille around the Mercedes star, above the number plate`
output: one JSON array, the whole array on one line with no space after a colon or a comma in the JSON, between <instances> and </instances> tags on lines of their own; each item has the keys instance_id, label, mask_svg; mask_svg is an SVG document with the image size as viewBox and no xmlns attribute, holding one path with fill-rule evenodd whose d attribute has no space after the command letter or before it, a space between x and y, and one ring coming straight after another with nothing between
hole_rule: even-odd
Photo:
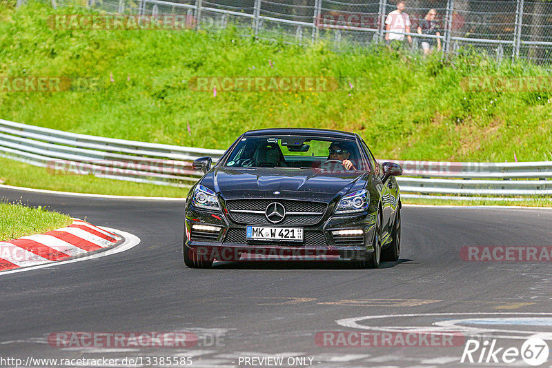
<instances>
[{"instance_id":1,"label":"upper front grille around the Mercedes star, above the number plate","mask_svg":"<svg viewBox=\"0 0 552 368\"><path fill-rule=\"evenodd\" d=\"M315 225L322 221L326 212L326 203L293 201L279 199L234 199L226 201L226 207L230 211L230 218L235 223L246 225L275 225L268 221L264 211L270 203L282 203L286 208L286 217L278 223L278 226L307 226ZM235 211L262 211L262 214ZM316 212L319 214L289 214L289 212Z\"/></svg>"}]
</instances>

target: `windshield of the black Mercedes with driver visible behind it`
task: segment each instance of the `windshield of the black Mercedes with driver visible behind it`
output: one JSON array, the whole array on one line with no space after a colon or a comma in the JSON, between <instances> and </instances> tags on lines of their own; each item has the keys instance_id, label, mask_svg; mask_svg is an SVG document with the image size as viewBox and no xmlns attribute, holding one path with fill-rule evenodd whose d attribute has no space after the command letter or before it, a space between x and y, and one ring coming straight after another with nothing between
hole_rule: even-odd
<instances>
[{"instance_id":1,"label":"windshield of the black Mercedes with driver visible behind it","mask_svg":"<svg viewBox=\"0 0 552 368\"><path fill-rule=\"evenodd\" d=\"M242 138L223 166L369 170L356 141L312 136Z\"/></svg>"}]
</instances>

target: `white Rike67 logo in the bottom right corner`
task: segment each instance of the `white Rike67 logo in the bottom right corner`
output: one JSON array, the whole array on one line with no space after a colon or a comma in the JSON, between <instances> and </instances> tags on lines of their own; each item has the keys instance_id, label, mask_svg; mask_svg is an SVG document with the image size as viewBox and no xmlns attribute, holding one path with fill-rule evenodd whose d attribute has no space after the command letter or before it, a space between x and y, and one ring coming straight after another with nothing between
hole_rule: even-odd
<instances>
[{"instance_id":1,"label":"white Rike67 logo in the bottom right corner","mask_svg":"<svg viewBox=\"0 0 552 368\"><path fill-rule=\"evenodd\" d=\"M526 364L536 367L548 360L549 353L546 342L537 337L525 340L521 349L499 347L495 338L483 342L469 339L460 362L512 364L522 359Z\"/></svg>"}]
</instances>

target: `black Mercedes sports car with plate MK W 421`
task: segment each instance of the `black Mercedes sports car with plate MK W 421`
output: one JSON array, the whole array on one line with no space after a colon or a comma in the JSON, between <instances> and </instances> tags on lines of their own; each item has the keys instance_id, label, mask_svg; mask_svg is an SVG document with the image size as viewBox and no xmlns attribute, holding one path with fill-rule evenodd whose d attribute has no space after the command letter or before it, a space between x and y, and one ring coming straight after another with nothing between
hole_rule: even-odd
<instances>
[{"instance_id":1,"label":"black Mercedes sports car with plate MK W 421","mask_svg":"<svg viewBox=\"0 0 552 368\"><path fill-rule=\"evenodd\" d=\"M398 260L400 190L395 163L380 165L358 134L315 129L253 130L186 200L184 263L247 256L339 256L358 267Z\"/></svg>"}]
</instances>

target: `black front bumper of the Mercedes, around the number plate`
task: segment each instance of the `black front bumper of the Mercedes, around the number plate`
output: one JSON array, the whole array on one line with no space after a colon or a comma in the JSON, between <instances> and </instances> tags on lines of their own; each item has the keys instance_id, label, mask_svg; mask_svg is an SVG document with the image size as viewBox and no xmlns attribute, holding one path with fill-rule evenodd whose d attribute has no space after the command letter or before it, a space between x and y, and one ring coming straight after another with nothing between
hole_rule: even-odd
<instances>
[{"instance_id":1,"label":"black front bumper of the Mercedes, around the number plate","mask_svg":"<svg viewBox=\"0 0 552 368\"><path fill-rule=\"evenodd\" d=\"M233 223L230 216L220 212L204 212L193 206L186 207L185 251L192 251L200 258L217 260L239 260L242 254L257 255L257 259L282 259L294 257L364 259L373 252L372 240L375 232L376 213L363 212L348 216L324 216L317 225L304 226L305 234L317 234L317 241L302 243L254 241L245 239L246 225ZM195 236L192 226L208 225L219 227L211 239ZM255 224L250 224L255 225ZM277 227L275 225L274 227ZM347 244L335 241L334 230L362 229L362 237ZM243 232L243 233L242 233ZM233 234L233 235L231 235ZM236 237L235 234L240 234ZM243 234L243 236L242 236ZM322 235L321 235L322 234ZM239 238L242 241L235 241ZM307 238L307 236L306 236ZM310 236L309 238L313 238Z\"/></svg>"}]
</instances>

